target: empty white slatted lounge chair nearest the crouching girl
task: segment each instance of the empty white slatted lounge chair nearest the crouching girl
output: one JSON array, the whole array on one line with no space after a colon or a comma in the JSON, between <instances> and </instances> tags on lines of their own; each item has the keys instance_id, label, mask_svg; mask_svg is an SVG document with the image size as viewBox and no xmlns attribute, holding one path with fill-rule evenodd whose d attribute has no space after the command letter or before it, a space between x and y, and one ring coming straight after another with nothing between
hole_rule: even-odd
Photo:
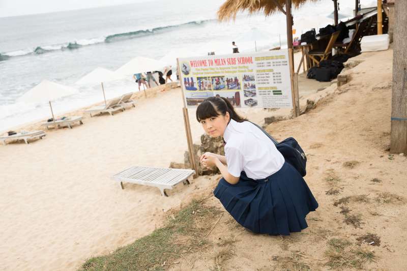
<instances>
[{"instance_id":1,"label":"empty white slatted lounge chair nearest the crouching girl","mask_svg":"<svg viewBox=\"0 0 407 271\"><path fill-rule=\"evenodd\" d=\"M160 189L161 195L168 197L165 189L172 189L179 183L189 184L189 179L195 170L157 167L131 167L112 176L114 180L120 182L124 189L123 182L144 186L154 186Z\"/></svg>"}]
</instances>

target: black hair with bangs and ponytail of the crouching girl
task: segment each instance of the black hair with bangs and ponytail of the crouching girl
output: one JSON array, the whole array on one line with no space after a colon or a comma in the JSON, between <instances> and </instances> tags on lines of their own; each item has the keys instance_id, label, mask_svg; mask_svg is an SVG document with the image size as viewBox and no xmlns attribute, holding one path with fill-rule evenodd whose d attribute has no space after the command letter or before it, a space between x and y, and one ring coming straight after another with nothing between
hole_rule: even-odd
<instances>
[{"instance_id":1,"label":"black hair with bangs and ponytail of the crouching girl","mask_svg":"<svg viewBox=\"0 0 407 271\"><path fill-rule=\"evenodd\" d=\"M196 120L199 123L203 119L225 115L226 112L229 112L230 118L238 123L247 121L236 113L229 100L224 97L209 97L200 103L196 108Z\"/></svg>"}]
</instances>

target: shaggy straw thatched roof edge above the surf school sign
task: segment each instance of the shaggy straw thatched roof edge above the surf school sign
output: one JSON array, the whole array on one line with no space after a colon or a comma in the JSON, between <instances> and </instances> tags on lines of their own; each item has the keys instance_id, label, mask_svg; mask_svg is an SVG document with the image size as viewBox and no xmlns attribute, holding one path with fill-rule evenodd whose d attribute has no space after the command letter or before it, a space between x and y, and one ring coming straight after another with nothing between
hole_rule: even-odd
<instances>
[{"instance_id":1,"label":"shaggy straw thatched roof edge above the surf school sign","mask_svg":"<svg viewBox=\"0 0 407 271\"><path fill-rule=\"evenodd\" d=\"M318 0L292 0L292 5L298 8L306 2L316 2ZM266 16L270 16L274 12L278 12L279 7L285 10L285 0L226 0L218 10L218 19L226 21L236 19L236 15L241 11L248 11L249 14L263 12Z\"/></svg>"}]
</instances>

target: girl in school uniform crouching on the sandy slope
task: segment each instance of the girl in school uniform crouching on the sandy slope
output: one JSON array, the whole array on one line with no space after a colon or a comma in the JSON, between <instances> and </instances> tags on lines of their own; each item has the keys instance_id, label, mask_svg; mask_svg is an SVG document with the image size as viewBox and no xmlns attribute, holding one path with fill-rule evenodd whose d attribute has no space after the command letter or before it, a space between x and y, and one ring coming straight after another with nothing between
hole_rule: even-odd
<instances>
[{"instance_id":1,"label":"girl in school uniform crouching on the sandy slope","mask_svg":"<svg viewBox=\"0 0 407 271\"><path fill-rule=\"evenodd\" d=\"M318 203L301 174L260 128L239 116L223 97L200 103L196 120L209 136L225 141L225 156L205 153L199 159L204 167L220 170L214 195L239 224L270 235L308 227L305 217Z\"/></svg>"}]
</instances>

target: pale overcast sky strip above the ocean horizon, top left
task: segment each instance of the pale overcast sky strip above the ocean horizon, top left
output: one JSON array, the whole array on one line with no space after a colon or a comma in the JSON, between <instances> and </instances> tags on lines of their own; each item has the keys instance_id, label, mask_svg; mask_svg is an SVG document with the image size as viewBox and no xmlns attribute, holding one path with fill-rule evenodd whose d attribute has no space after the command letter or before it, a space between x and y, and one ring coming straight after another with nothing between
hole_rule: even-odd
<instances>
[{"instance_id":1,"label":"pale overcast sky strip above the ocean horizon, top left","mask_svg":"<svg viewBox=\"0 0 407 271\"><path fill-rule=\"evenodd\" d=\"M86 9L150 0L0 0L0 17Z\"/></svg>"}]
</instances>

